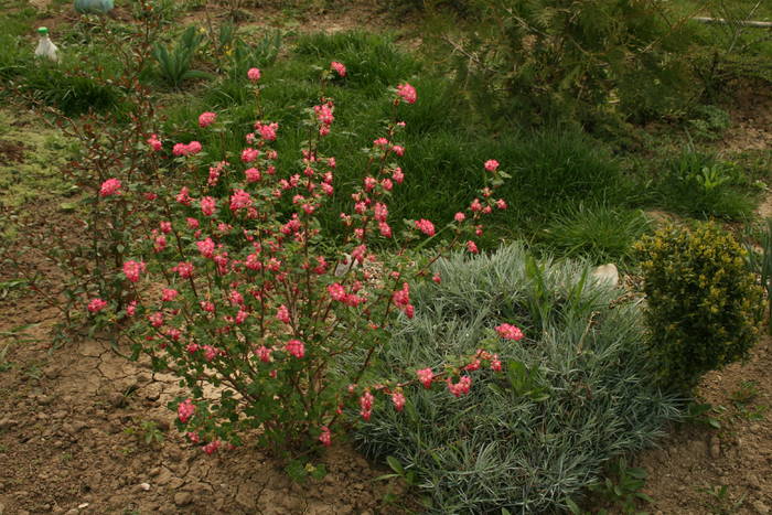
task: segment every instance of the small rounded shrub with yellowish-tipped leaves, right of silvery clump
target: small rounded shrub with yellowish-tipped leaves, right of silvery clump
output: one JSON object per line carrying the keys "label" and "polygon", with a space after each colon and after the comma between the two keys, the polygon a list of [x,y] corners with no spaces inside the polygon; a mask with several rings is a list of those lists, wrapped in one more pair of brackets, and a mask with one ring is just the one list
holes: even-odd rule
{"label": "small rounded shrub with yellowish-tipped leaves, right of silvery clump", "polygon": [[688,393],[744,358],[759,337],[762,292],[744,249],[714,224],[668,226],[636,244],[651,356],[662,384]]}

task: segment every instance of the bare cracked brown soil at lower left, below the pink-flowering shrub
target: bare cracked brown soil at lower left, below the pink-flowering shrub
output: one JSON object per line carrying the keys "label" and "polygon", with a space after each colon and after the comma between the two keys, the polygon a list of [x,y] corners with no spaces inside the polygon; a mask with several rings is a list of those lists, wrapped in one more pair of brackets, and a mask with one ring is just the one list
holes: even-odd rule
{"label": "bare cracked brown soil at lower left, below the pink-flowering shrub", "polygon": [[[388,485],[372,481],[384,471],[345,444],[323,457],[323,480],[304,484],[248,444],[206,455],[173,427],[173,377],[98,340],[51,350],[56,315],[32,298],[0,301],[0,335],[37,323],[10,341],[0,372],[0,514],[397,511],[380,503]],[[142,421],[161,443],[143,441]]]}

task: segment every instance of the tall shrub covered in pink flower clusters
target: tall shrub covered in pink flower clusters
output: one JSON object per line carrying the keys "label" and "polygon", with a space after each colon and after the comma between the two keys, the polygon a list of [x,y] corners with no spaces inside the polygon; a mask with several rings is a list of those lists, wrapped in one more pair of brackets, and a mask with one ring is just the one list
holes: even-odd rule
{"label": "tall shrub covered in pink flower clusters", "polygon": [[[332,71],[345,75],[333,63],[323,78]],[[260,72],[248,74],[259,101]],[[485,187],[452,221],[442,226],[406,221],[399,233],[393,227],[388,201],[406,180],[395,162],[406,151],[398,143],[405,124],[396,115],[401,104],[418,99],[407,83],[394,94],[395,119],[366,150],[352,208],[340,213],[347,237],[335,249],[317,219],[335,194],[337,167],[322,150],[335,119],[335,104],[323,93],[307,111],[309,136],[296,170],[277,169],[272,146],[281,127],[270,120],[255,122],[240,153],[214,163],[211,150],[195,141],[174,146],[179,170],[201,180],[174,187],[159,183],[161,219],[138,244],[137,256],[143,257],[127,259],[120,277],[137,299],[126,310],[136,320],[128,332],[135,357],[146,353],[157,369],[181,377],[190,396],[171,408],[193,442],[206,442],[206,452],[238,444],[248,429],[259,429],[260,443],[280,455],[314,442],[329,446],[347,405],[358,406],[367,420],[384,398],[401,410],[414,383],[444,383],[460,397],[479,368],[501,371],[497,355],[481,348],[443,369],[414,371],[409,382],[367,374],[395,318],[415,314],[411,285],[428,279],[429,266],[449,249],[476,251],[472,238],[482,234],[482,217],[506,207],[494,191],[507,175],[489,162],[481,170]],[[199,125],[218,130],[218,117],[204,112]],[[157,138],[148,140],[148,151]],[[196,174],[206,168],[208,174]],[[120,191],[111,179],[105,184],[106,191]],[[106,199],[117,202],[121,195]],[[430,240],[437,243],[430,256],[408,254],[408,245]],[[378,250],[389,245],[396,250]],[[89,309],[101,311],[98,303]],[[502,335],[516,339],[516,328],[510,328]],[[351,355],[361,357],[356,365],[334,366]],[[206,385],[216,388],[216,398],[205,395]]]}

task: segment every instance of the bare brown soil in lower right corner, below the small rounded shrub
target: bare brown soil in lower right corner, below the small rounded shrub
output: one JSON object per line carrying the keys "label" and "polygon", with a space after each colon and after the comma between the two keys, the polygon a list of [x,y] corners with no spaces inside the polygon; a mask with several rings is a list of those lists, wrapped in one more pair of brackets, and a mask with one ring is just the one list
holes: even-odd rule
{"label": "bare brown soil in lower right corner, below the small rounded shrub", "polygon": [[[765,336],[746,364],[708,374],[699,399],[720,423],[675,428],[662,449],[644,453],[648,472],[642,506],[658,514],[772,513],[772,339]],[[721,487],[726,486],[723,494]]]}

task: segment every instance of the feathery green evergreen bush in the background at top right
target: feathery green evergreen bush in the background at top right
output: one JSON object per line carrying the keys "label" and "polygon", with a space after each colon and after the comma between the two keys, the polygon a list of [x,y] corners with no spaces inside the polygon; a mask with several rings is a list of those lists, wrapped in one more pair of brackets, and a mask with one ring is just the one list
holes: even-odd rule
{"label": "feathery green evergreen bush in the background at top right", "polygon": [[642,120],[680,109],[694,95],[678,55],[688,31],[668,26],[662,2],[469,3],[473,14],[454,20],[447,40],[459,85],[486,115],[592,124],[616,111]]}

